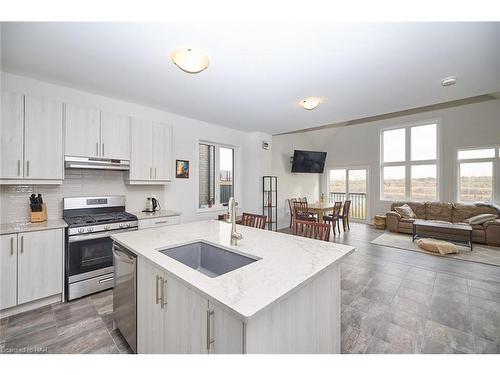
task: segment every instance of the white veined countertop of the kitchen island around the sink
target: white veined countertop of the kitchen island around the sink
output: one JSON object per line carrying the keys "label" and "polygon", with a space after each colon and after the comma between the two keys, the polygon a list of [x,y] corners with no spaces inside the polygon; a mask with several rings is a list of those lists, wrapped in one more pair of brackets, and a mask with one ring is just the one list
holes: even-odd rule
{"label": "white veined countertop of the kitchen island around the sink", "polygon": [[[354,250],[351,246],[332,242],[241,225],[236,227],[243,235],[237,246],[229,244],[231,224],[217,220],[119,233],[112,238],[139,257],[149,259],[188,286],[215,299],[244,321]],[[210,278],[158,251],[200,240],[261,259]]]}

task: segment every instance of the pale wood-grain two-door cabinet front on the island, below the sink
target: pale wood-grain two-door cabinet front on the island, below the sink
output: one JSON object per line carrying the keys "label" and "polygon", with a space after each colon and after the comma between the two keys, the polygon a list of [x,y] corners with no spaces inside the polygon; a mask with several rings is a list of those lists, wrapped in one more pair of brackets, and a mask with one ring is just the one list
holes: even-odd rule
{"label": "pale wood-grain two-door cabinet front on the island, below the sink", "polygon": [[243,353],[243,323],[142,257],[137,267],[139,353]]}

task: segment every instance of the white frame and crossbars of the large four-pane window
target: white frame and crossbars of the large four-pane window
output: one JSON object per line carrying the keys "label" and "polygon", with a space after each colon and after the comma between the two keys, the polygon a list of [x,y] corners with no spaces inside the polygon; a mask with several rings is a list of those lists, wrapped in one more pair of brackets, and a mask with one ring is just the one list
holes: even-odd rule
{"label": "white frame and crossbars of the large four-pane window", "polygon": [[[436,125],[436,159],[411,160],[411,129],[425,125]],[[405,129],[405,160],[397,162],[384,162],[384,132],[390,130]],[[381,202],[396,202],[398,200],[425,202],[438,202],[441,194],[441,120],[439,118],[419,122],[409,122],[390,127],[384,127],[379,132],[379,197]],[[416,200],[411,196],[411,167],[415,165],[436,165],[436,198],[433,200]],[[384,167],[405,167],[405,196],[400,199],[391,199],[384,196]]]}

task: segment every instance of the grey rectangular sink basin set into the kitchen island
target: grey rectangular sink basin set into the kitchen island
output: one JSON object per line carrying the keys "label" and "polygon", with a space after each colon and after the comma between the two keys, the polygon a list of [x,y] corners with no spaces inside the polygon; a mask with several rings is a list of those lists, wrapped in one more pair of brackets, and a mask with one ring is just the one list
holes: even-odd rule
{"label": "grey rectangular sink basin set into the kitchen island", "polygon": [[209,277],[217,277],[257,261],[202,241],[160,252]]}

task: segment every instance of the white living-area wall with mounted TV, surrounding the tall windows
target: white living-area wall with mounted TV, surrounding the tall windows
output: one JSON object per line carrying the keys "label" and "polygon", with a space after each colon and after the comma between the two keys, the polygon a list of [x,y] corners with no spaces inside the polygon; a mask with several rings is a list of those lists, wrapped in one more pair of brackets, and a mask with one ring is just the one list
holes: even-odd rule
{"label": "white living-area wall with mounted TV, surrounding the tall windows", "polygon": [[[273,144],[275,147],[281,144],[283,149],[292,150],[302,147],[305,141],[311,145],[311,149],[327,151],[325,171],[331,167],[368,167],[371,218],[377,213],[386,212],[390,206],[390,202],[380,200],[380,130],[425,121],[438,121],[440,126],[440,200],[455,201],[456,149],[500,144],[500,100],[293,136],[274,136]],[[306,176],[293,178],[289,166],[284,163],[273,163],[273,173],[289,181],[281,184],[282,197],[296,196],[296,185],[311,185]],[[319,191],[326,195],[326,173],[320,178]],[[317,197],[317,194],[311,192],[311,197]]]}

